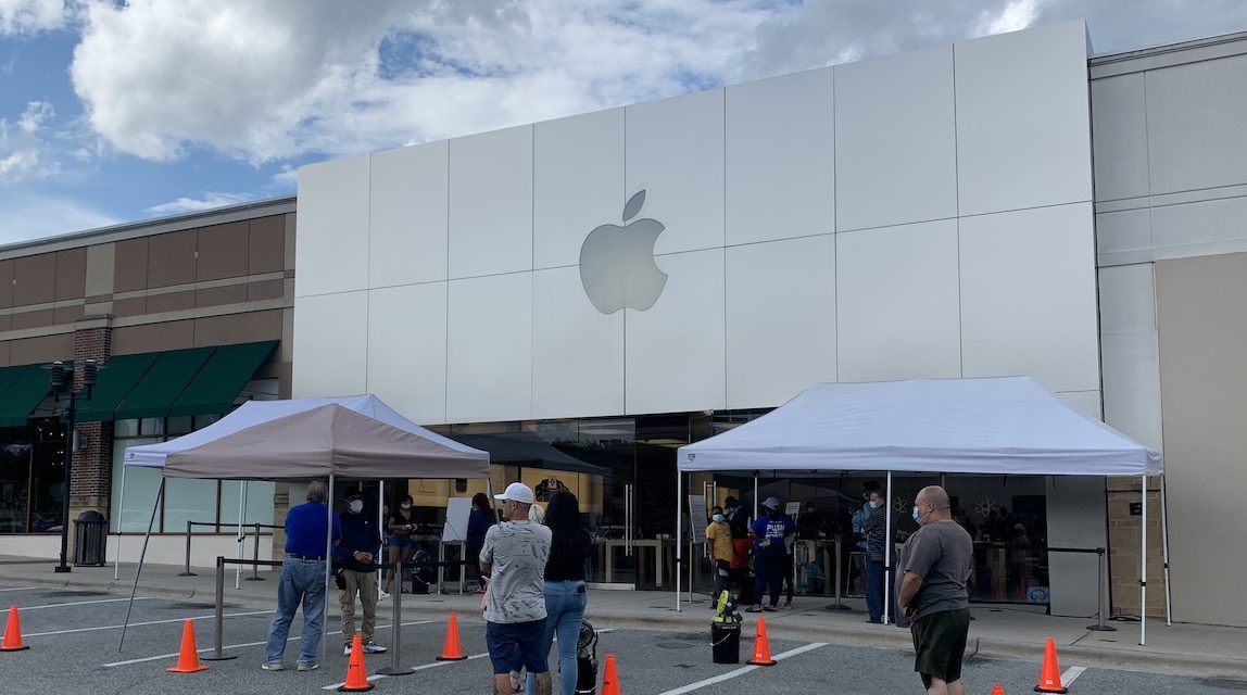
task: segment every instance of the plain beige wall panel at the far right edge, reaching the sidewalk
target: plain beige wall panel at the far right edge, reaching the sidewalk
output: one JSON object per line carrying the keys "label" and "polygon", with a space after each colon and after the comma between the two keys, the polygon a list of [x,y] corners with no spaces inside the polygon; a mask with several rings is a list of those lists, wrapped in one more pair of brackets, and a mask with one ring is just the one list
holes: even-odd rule
{"label": "plain beige wall panel at the far right edge, reaching the sidewalk", "polygon": [[[1230,578],[1247,555],[1227,510],[1247,499],[1247,253],[1156,263],[1173,618],[1247,625]],[[1210,581],[1210,578],[1220,580]]]}

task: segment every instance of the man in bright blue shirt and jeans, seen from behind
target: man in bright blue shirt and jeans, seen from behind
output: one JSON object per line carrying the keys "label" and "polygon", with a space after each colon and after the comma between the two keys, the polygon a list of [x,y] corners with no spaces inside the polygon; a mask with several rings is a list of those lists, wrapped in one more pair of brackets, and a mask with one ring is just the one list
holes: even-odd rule
{"label": "man in bright blue shirt and jeans, seen from behind", "polygon": [[324,483],[308,484],[307,502],[286,513],[286,559],[282,560],[282,579],[277,585],[277,613],[268,626],[268,644],[264,646],[267,671],[286,669],[282,655],[286,639],[291,634],[294,611],[303,604],[303,634],[299,638],[301,671],[320,668],[317,650],[324,634],[324,563],[328,522],[333,519],[333,543],[342,538],[342,522],[329,512],[329,490]]}

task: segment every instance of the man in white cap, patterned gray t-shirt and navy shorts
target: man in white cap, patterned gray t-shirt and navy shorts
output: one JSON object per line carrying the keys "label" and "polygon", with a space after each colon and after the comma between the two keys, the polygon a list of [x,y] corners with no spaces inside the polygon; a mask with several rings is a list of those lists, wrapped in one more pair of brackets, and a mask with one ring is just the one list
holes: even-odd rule
{"label": "man in white cap, patterned gray t-shirt and navy shorts", "polygon": [[480,574],[489,578],[485,595],[485,644],[494,664],[494,691],[511,694],[511,671],[527,669],[537,695],[550,695],[545,635],[545,564],[550,529],[529,520],[532,489],[511,483],[494,495],[503,503],[501,524],[485,533]]}

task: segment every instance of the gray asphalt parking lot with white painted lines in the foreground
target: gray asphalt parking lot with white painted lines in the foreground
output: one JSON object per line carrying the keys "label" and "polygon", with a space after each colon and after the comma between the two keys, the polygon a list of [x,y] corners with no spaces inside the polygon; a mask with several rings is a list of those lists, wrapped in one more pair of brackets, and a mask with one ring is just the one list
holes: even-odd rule
{"label": "gray asphalt parking lot with white painted lines in the foreground", "polygon": [[[263,641],[269,610],[256,606],[226,605],[222,643],[227,661],[206,661],[208,670],[197,674],[171,674],[166,669],[177,661],[182,624],[192,619],[201,653],[212,650],[212,605],[207,600],[143,599],[133,604],[125,646],[118,651],[121,624],[127,601],[92,590],[29,588],[10,590],[4,599],[21,609],[25,651],[0,654],[0,690],[4,693],[168,693],[180,695],[263,694],[334,691],[345,678],[347,658],[342,655],[340,624],[334,614],[327,620],[328,658],[322,668],[298,673],[259,669],[264,660]],[[392,644],[388,616],[382,615],[377,639]],[[797,639],[786,635],[782,624],[769,625],[769,648],[778,664],[769,668],[747,666],[752,654],[753,623],[747,623],[741,639],[741,664],[715,664],[711,659],[710,630],[653,631],[616,628],[607,621],[596,626],[597,655],[605,661],[614,654],[619,666],[621,691],[628,695],[680,695],[683,693],[754,693],[782,688],[787,693],[920,693],[912,671],[912,655],[899,649],[848,646]],[[297,618],[286,661],[293,666],[301,620]],[[484,623],[478,615],[459,619],[460,640],[466,661],[438,661],[445,638],[445,619],[405,615],[402,628],[402,653],[397,661],[414,668],[409,675],[382,676],[373,681],[377,693],[473,693],[490,688],[490,663],[485,655]],[[392,666],[394,654],[367,658],[368,673]],[[1202,681],[1186,676],[1162,676],[1136,671],[1087,669],[1062,664],[1065,673],[1077,674],[1071,693],[1148,693],[1226,695],[1242,690],[1236,681]],[[600,669],[601,670],[601,669]],[[1006,693],[1029,693],[1039,676],[1039,665],[1011,660],[970,658],[964,681],[966,693],[990,693],[995,683]],[[1067,676],[1069,678],[1069,676]]]}

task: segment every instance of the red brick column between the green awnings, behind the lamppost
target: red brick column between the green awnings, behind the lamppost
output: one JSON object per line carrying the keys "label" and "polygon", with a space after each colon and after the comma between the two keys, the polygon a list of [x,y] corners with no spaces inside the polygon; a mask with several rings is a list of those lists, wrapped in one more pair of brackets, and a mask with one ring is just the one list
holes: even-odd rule
{"label": "red brick column between the green awnings, behind the lamppost", "polygon": [[[84,318],[74,331],[74,362],[95,359],[106,364],[112,354],[112,321],[108,317]],[[82,371],[74,369],[74,388],[82,388]],[[84,394],[85,396],[85,394]],[[89,422],[76,428],[80,448],[74,452],[70,472],[70,523],[94,509],[111,519],[112,423]],[[72,445],[72,438],[71,444]],[[70,554],[74,552],[74,527],[70,527]]]}

